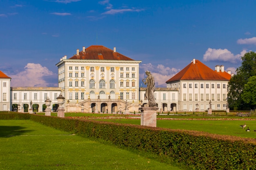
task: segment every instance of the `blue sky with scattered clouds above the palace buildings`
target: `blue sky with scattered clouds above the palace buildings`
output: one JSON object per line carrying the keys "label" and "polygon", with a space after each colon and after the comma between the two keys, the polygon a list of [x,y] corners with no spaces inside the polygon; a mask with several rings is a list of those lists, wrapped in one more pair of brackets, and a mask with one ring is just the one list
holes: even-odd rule
{"label": "blue sky with scattered clouds above the palace buildings", "polygon": [[[0,0],[0,70],[13,87],[57,87],[60,59],[91,45],[141,60],[156,87],[191,60],[236,73],[256,51],[255,0]],[[144,85],[144,84],[143,84]]]}

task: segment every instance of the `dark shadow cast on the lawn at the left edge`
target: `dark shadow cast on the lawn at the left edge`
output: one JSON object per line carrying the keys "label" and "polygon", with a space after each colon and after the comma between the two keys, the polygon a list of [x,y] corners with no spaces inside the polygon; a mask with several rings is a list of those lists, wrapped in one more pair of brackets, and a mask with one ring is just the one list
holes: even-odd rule
{"label": "dark shadow cast on the lawn at the left edge", "polygon": [[31,132],[34,130],[24,130],[26,127],[22,126],[0,126],[0,137],[13,137],[20,136],[25,132]]}

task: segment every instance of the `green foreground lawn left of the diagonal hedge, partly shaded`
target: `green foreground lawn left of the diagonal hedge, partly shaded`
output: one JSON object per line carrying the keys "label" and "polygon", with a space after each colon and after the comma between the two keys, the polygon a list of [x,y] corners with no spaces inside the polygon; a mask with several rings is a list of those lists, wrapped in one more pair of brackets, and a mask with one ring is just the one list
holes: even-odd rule
{"label": "green foreground lawn left of the diagonal hedge, partly shaded", "polygon": [[158,157],[102,144],[30,120],[0,120],[0,169],[181,170]]}

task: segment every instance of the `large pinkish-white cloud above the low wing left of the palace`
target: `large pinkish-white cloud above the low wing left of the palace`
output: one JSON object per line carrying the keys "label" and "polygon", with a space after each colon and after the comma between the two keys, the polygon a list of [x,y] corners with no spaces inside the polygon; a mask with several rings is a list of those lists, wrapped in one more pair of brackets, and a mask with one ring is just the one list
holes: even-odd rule
{"label": "large pinkish-white cloud above the low wing left of the palace", "polygon": [[9,75],[9,77],[11,77],[12,87],[47,87],[49,83],[44,78],[52,75],[54,73],[48,68],[40,64],[28,63],[24,71]]}

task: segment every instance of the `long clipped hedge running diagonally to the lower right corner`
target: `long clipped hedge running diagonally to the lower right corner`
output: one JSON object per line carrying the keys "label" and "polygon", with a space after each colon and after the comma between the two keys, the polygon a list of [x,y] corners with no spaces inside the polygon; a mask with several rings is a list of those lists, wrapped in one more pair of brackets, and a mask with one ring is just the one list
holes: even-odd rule
{"label": "long clipped hedge running diagonally to the lower right corner", "polygon": [[31,120],[53,128],[111,141],[118,146],[153,152],[193,169],[256,169],[254,139],[88,119],[29,116]]}

